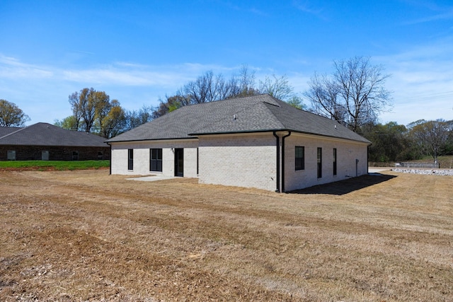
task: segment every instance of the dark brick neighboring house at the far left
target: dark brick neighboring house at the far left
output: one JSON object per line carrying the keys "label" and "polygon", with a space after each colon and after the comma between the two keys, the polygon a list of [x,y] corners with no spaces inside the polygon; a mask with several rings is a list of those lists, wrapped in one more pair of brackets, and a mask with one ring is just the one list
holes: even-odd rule
{"label": "dark brick neighboring house at the far left", "polygon": [[38,122],[0,127],[0,161],[86,161],[110,159],[110,147],[95,134]]}

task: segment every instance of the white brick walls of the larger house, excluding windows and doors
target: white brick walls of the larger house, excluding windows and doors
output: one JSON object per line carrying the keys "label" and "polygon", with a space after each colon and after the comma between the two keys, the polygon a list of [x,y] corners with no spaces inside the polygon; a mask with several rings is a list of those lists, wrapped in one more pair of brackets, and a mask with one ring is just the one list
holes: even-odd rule
{"label": "white brick walls of the larger house, excluding windows and doors", "polygon": [[[282,139],[280,138],[280,144]],[[305,168],[295,170],[294,147],[304,146]],[[322,148],[322,178],[317,178],[317,148]],[[222,134],[199,139],[140,141],[112,144],[112,174],[149,175],[149,149],[162,149],[162,174],[174,176],[174,149],[184,149],[184,177],[200,183],[277,187],[277,147],[272,133]],[[197,175],[197,148],[198,168]],[[333,175],[333,149],[337,149],[337,175]],[[134,169],[127,170],[127,149],[134,149]],[[367,144],[292,133],[285,139],[285,191],[297,190],[367,173]]]}

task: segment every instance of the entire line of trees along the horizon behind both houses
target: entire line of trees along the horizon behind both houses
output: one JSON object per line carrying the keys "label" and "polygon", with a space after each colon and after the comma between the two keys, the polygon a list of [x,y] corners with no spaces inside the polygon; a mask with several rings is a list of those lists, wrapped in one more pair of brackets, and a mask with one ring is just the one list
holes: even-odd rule
{"label": "entire line of trees along the horizon behind both houses", "polygon": [[[352,57],[333,61],[331,74],[315,73],[309,88],[298,94],[287,76],[265,76],[257,81],[254,71],[242,66],[239,74],[229,78],[206,71],[175,93],[159,98],[159,105],[143,105],[139,110],[125,110],[104,91],[83,88],[69,95],[72,115],[55,124],[108,139],[185,105],[268,93],[295,108],[336,120],[372,141],[369,161],[408,161],[423,156],[435,160],[453,154],[453,121],[418,120],[407,126],[378,122],[379,114],[391,107],[391,91],[385,88],[389,77],[369,57]],[[15,104],[0,100],[0,127],[21,127],[28,120]]]}

